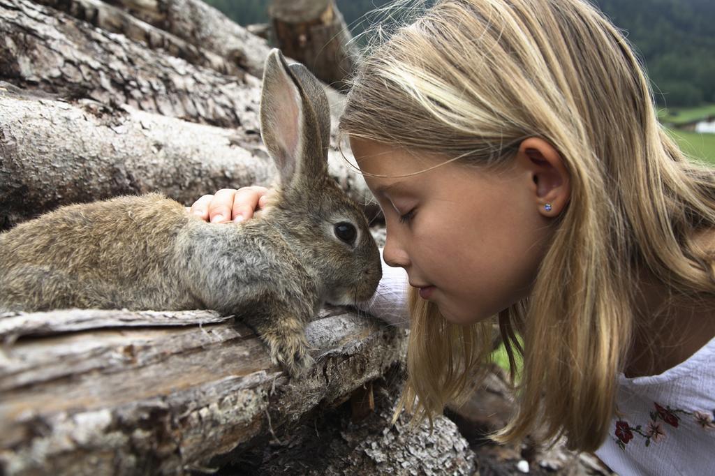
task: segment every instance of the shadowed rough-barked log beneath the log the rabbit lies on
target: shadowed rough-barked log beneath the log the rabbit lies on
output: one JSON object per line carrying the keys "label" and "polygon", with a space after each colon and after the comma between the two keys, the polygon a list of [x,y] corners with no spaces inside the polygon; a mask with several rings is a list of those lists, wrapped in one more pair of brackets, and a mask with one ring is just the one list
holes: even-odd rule
{"label": "shadowed rough-barked log beneath the log the rabbit lies on", "polygon": [[360,387],[374,389],[375,411],[355,421],[347,404],[310,418],[260,453],[245,453],[225,475],[478,475],[475,455],[448,418],[412,427],[404,412],[391,424],[403,379],[399,369]]}

